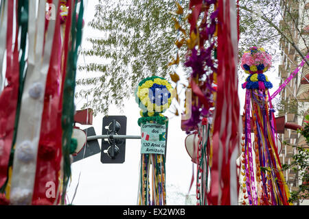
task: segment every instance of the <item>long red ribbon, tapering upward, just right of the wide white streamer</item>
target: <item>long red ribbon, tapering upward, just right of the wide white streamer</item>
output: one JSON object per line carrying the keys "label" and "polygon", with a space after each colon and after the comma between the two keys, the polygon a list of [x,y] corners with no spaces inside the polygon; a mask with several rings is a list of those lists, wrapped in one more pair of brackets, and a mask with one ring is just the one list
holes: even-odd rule
{"label": "long red ribbon, tapering upward, just right of the wide white streamer", "polygon": [[[57,0],[58,1],[58,0]],[[60,4],[57,14],[60,12]],[[36,179],[32,205],[52,205],[56,199],[58,177],[61,161],[62,129],[58,108],[60,103],[60,81],[62,74],[60,16],[56,16],[54,32],[54,47],[52,48],[49,70],[47,73],[45,101],[43,107],[41,134],[36,162]],[[56,118],[56,119],[55,119]]]}

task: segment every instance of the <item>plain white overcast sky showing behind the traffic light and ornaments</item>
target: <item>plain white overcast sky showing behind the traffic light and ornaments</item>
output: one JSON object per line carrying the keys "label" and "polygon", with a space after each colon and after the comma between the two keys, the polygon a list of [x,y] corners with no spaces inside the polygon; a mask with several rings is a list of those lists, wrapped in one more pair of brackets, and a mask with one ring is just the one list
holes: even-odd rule
{"label": "plain white overcast sky showing behind the traffic light and ornaments", "polygon": [[[87,23],[91,21],[94,15],[95,4],[98,0],[88,1],[87,8],[84,11],[84,32],[82,47],[88,45],[85,42],[87,37],[102,37],[102,33],[88,27]],[[265,48],[266,49],[266,48]],[[80,56],[78,62],[89,62],[93,58]],[[102,62],[104,60],[98,60]],[[270,81],[273,82],[273,93],[279,84],[277,79],[277,64],[275,68],[266,73]],[[78,72],[77,78],[87,77],[87,73]],[[91,74],[93,77],[93,74]],[[244,105],[244,90],[239,82],[239,96],[242,112]],[[82,104],[87,102],[84,99],[76,100],[76,109],[80,110]],[[127,117],[127,135],[140,135],[140,127],[137,125],[139,118],[139,107],[134,98],[125,101],[124,113],[120,112],[115,105],[111,105],[109,115],[125,115]],[[93,118],[93,127],[97,135],[102,134],[103,114],[98,114]],[[80,126],[82,129],[90,126]],[[181,119],[179,117],[170,118],[168,129],[168,144],[166,157],[166,184],[167,184],[167,203],[168,205],[184,205],[191,177],[192,162],[185,151],[184,131],[181,131]],[[101,145],[101,140],[99,140]],[[126,162],[124,164],[102,164],[100,162],[100,153],[88,157],[71,165],[72,175],[71,184],[67,190],[69,201],[71,202],[76,190],[78,177],[80,181],[78,190],[73,201],[73,205],[136,205],[139,177],[139,159],[140,159],[140,140],[126,140]],[[194,167],[194,172],[196,167]],[[194,194],[193,185],[191,194]],[[192,203],[194,204],[194,203]]]}

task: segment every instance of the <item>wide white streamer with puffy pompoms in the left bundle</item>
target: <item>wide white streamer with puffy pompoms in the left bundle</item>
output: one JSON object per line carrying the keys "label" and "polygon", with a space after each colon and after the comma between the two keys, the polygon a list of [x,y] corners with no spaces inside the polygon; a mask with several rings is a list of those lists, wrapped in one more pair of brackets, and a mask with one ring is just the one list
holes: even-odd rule
{"label": "wide white streamer with puffy pompoms in the left bundle", "polygon": [[[58,3],[58,1],[54,3],[56,9],[58,9]],[[44,105],[45,83],[54,41],[56,21],[50,20],[43,53],[45,38],[45,0],[40,0],[38,3],[37,18],[35,14],[36,1],[29,1],[29,56],[25,86],[21,99],[19,129],[16,135],[16,145],[14,145],[16,153],[14,153],[12,172],[12,192],[10,198],[12,205],[30,205],[32,201],[36,175],[36,157]],[[38,92],[34,92],[34,90],[37,90],[34,89],[35,85],[42,88],[38,89],[40,90],[40,95],[38,96],[36,95]]]}

